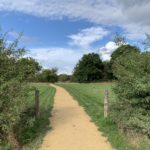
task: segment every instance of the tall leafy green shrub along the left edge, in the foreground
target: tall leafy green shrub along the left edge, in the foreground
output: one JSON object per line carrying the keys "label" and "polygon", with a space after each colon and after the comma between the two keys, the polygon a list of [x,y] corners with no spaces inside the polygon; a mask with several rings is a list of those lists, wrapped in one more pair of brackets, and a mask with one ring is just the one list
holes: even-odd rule
{"label": "tall leafy green shrub along the left edge, in the foreground", "polygon": [[8,45],[5,37],[0,37],[0,136],[7,139],[12,148],[18,145],[13,127],[24,108],[26,96],[26,84],[18,65],[25,49],[18,48],[17,44],[16,40]]}

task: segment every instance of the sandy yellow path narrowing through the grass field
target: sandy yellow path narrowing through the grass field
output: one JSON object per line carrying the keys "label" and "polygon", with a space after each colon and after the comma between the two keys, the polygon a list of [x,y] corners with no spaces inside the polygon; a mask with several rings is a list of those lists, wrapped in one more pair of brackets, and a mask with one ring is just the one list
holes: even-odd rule
{"label": "sandy yellow path narrowing through the grass field", "polygon": [[106,137],[97,130],[82,107],[58,86],[51,117],[52,130],[40,150],[112,150]]}

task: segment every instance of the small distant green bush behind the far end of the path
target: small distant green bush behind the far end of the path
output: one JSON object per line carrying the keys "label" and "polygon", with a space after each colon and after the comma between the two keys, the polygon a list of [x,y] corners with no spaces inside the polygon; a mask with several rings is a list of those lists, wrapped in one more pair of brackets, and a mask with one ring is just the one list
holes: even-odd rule
{"label": "small distant green bush behind the far end of the path", "polygon": [[39,82],[57,82],[58,76],[57,76],[57,69],[43,69],[41,73],[37,75],[37,80]]}

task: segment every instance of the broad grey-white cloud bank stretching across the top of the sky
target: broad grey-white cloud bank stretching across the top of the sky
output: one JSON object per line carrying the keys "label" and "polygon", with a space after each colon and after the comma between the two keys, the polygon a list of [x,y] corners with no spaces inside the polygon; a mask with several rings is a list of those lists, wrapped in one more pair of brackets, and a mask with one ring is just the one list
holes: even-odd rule
{"label": "broad grey-white cloud bank stretching across the top of the sky", "polygon": [[[49,19],[85,19],[96,24],[121,26],[125,30],[132,25],[140,29],[150,26],[149,0],[0,0],[0,11],[17,11]],[[135,30],[128,32],[134,39],[144,34],[144,31],[139,31],[140,35]]]}

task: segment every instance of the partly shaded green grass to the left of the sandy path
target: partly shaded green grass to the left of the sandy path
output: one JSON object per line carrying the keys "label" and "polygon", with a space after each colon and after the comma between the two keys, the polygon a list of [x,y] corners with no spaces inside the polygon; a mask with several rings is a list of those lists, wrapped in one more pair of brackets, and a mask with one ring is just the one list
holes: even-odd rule
{"label": "partly shaded green grass to the left of the sandy path", "polygon": [[55,89],[46,83],[35,83],[40,92],[40,116],[34,117],[34,90],[30,92],[27,98],[27,110],[23,113],[18,123],[17,135],[24,150],[37,150],[42,143],[45,133],[50,129],[49,117],[54,102]]}

